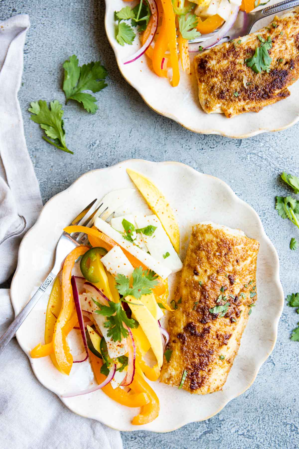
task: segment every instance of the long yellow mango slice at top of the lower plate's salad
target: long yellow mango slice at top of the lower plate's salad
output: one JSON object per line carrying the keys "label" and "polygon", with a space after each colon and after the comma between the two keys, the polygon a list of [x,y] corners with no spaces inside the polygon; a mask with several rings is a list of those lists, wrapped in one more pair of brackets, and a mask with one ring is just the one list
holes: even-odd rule
{"label": "long yellow mango slice at top of the lower plate's salad", "polygon": [[165,196],[156,188],[145,176],[134,172],[127,168],[127,173],[136,187],[139,189],[148,206],[152,209],[154,214],[159,218],[166,234],[168,235],[173,248],[177,253],[180,250],[180,230],[177,220],[173,214],[172,208],[169,206]]}

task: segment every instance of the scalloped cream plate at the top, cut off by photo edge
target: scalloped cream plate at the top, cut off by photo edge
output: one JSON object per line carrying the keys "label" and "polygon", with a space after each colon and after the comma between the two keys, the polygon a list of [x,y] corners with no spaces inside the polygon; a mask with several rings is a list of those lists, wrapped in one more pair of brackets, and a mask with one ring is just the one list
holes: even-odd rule
{"label": "scalloped cream plate at the top, cut off by photo edge", "polygon": [[[106,0],[105,28],[108,40],[114,50],[117,65],[122,76],[141,95],[149,107],[183,127],[201,134],[220,134],[221,136],[244,138],[261,132],[280,131],[296,123],[299,119],[298,83],[290,86],[290,97],[266,106],[258,113],[249,112],[227,119],[224,114],[206,114],[198,99],[198,86],[191,55],[191,75],[180,70],[178,87],[173,88],[168,79],[159,78],[151,69],[149,59],[143,55],[137,61],[124,65],[126,58],[140,48],[139,38],[133,45],[122,47],[115,39],[114,11],[125,5],[135,5],[123,0]],[[277,3],[271,0],[270,4]],[[260,8],[261,9],[261,8]],[[278,14],[281,15],[281,14]],[[256,31],[271,22],[273,16],[257,22],[252,31]]]}

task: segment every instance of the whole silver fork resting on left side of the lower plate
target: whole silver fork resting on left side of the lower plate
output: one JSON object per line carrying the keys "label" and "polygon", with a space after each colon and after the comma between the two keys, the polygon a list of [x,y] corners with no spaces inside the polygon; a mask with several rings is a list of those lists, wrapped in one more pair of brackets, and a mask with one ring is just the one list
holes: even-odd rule
{"label": "whole silver fork resting on left side of the lower plate", "polygon": [[[88,226],[91,227],[93,224],[93,217],[95,216],[96,212],[100,209],[100,207],[103,205],[103,203],[100,204],[99,207],[95,209],[95,211],[87,218],[87,220],[84,220],[86,218],[87,212],[89,212],[92,208],[92,206],[97,201],[97,198],[95,198],[90,204],[88,204],[87,207],[85,207],[80,214],[74,218],[74,220],[71,222],[71,225],[78,225],[82,224],[82,226]],[[104,211],[99,215],[103,216],[103,214],[107,211],[108,207],[104,209]],[[108,217],[108,219],[110,216]],[[108,220],[107,219],[107,220]],[[84,220],[84,221],[83,221]],[[83,222],[82,222],[83,221]],[[79,245],[84,245],[87,243],[87,236],[84,233],[72,233],[68,234],[66,232],[63,232],[61,234],[60,239],[58,240],[57,246],[56,246],[56,255],[55,255],[55,262],[52,270],[48,274],[47,278],[43,281],[42,285],[38,288],[38,290],[35,292],[35,294],[32,296],[30,301],[26,304],[26,306],[22,309],[22,311],[15,317],[9,328],[4,332],[4,334],[0,337],[0,354],[10,340],[13,338],[15,333],[17,332],[18,328],[21,326],[22,322],[26,319],[26,317],[29,315],[31,310],[34,308],[35,304],[39,301],[40,297],[44,294],[45,291],[47,291],[48,287],[52,284],[52,281],[56,278],[57,274],[62,269],[65,257],[72,251],[75,247],[78,247]]]}

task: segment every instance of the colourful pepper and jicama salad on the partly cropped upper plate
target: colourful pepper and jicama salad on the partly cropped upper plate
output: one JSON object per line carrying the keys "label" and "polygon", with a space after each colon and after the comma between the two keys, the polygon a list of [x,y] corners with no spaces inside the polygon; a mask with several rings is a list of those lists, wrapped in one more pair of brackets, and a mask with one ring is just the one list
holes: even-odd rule
{"label": "colourful pepper and jicama salad on the partly cropped upper plate", "polygon": [[[234,25],[239,9],[249,13],[259,5],[260,0],[141,0],[124,6],[114,14],[117,42],[132,45],[136,34],[141,40],[141,47],[124,64],[145,53],[156,75],[178,86],[180,70],[191,73],[189,53],[217,44]],[[201,44],[192,43],[213,31]]]}

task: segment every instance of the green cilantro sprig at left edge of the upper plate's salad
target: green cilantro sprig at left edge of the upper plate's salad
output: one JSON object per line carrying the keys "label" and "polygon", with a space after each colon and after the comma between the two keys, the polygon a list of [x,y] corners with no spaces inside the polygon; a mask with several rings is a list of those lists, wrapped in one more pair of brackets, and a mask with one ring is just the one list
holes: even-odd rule
{"label": "green cilantro sprig at left edge of the upper plate's salad", "polygon": [[[143,0],[139,2],[134,8],[125,6],[120,11],[115,11],[114,18],[117,21],[116,27],[116,40],[124,46],[125,44],[132,45],[135,39],[136,33],[133,27],[138,26],[138,31],[144,31],[147,27],[149,19],[151,17],[151,11],[148,3],[143,3]],[[131,20],[131,26],[123,21]]]}

